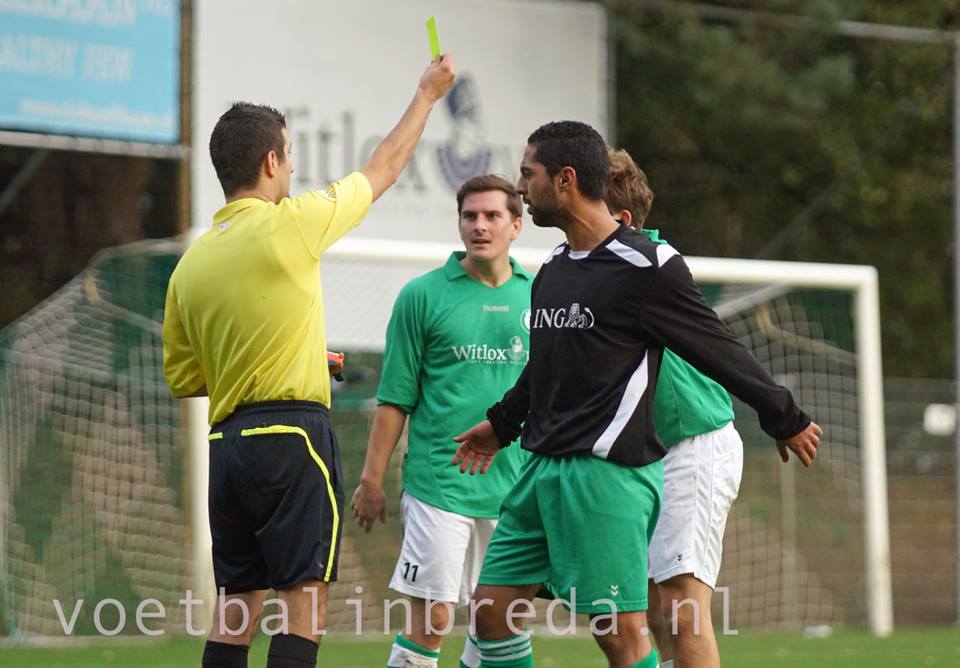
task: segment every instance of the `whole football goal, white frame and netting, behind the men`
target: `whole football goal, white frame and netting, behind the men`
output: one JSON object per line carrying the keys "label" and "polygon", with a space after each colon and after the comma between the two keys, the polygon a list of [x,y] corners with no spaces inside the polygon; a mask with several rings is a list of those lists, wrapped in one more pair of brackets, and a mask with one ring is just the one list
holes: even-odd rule
{"label": "whole football goal, white frame and netting, behind the men", "polygon": [[[205,522],[202,400],[172,399],[159,326],[166,281],[182,247],[144,243],[99,258],[83,276],[0,338],[0,632],[62,636],[79,599],[76,634],[118,624],[138,633],[138,605],[156,599],[162,625],[183,632],[187,589],[212,600]],[[334,384],[347,500],[363,466],[393,301],[451,247],[343,239],[323,261],[329,346],[347,353]],[[542,251],[515,249],[535,270]],[[780,463],[739,403],[743,484],[726,531],[715,597],[718,632],[892,624],[876,277],[836,265],[687,258],[708,300],[788,386],[826,439],[812,469]],[[189,429],[182,426],[189,424]],[[189,441],[189,444],[188,444]],[[382,632],[401,539],[399,463],[387,525],[370,534],[344,513],[331,632]],[[194,626],[205,618],[194,611]],[[206,614],[204,611],[202,614]],[[112,616],[111,616],[112,615]],[[392,613],[396,630],[402,612]]]}

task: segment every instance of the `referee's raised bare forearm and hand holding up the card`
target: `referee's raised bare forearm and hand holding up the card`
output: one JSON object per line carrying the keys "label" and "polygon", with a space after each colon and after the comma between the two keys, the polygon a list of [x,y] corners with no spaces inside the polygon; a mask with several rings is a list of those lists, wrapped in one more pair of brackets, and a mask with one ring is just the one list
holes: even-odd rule
{"label": "referee's raised bare forearm and hand holding up the card", "polygon": [[370,182],[374,202],[396,183],[410,162],[433,105],[450,89],[453,79],[453,57],[449,53],[430,63],[400,121],[360,168]]}

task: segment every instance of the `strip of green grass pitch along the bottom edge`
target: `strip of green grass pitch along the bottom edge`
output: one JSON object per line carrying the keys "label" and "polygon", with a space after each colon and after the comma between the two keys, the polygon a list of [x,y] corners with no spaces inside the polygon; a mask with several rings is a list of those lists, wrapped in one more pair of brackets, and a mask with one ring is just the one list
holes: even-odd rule
{"label": "strip of green grass pitch along the bottom edge", "polygon": [[[440,665],[457,665],[462,639],[451,639]],[[383,666],[389,640],[331,637],[320,649],[318,665],[335,668]],[[267,643],[259,638],[250,654],[250,666],[263,666]],[[202,643],[179,638],[169,642],[125,644],[105,641],[95,647],[40,649],[0,646],[3,668],[99,668],[138,666],[182,668],[199,665]],[[534,636],[536,665],[543,668],[605,668],[593,640],[585,637]],[[960,666],[960,630],[917,628],[898,630],[878,640],[862,631],[839,631],[829,638],[806,639],[798,633],[728,636],[720,653],[729,668],[918,668]]]}

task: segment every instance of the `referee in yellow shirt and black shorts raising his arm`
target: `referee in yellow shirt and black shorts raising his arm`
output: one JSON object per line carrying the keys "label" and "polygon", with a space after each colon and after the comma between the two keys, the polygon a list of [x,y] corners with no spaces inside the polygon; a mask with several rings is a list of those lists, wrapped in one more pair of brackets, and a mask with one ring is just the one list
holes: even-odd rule
{"label": "referee in yellow shirt and black shorts raising his arm", "polygon": [[163,323],[177,397],[210,397],[210,528],[220,596],[204,667],[247,665],[270,589],[284,614],[268,668],[316,665],[336,580],[343,474],[330,426],[320,257],[406,166],[453,83],[444,55],[360,171],[290,197],[283,116],[234,104],[210,137],[226,204],[180,259]]}

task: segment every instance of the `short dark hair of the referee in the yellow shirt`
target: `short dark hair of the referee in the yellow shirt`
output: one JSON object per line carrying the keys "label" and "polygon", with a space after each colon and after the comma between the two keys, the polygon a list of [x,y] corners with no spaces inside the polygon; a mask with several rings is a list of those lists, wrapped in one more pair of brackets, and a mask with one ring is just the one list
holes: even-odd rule
{"label": "short dark hair of the referee in the yellow shirt", "polygon": [[224,112],[210,135],[210,159],[225,196],[257,185],[260,166],[270,151],[281,163],[286,160],[285,127],[283,114],[263,104],[235,102]]}

